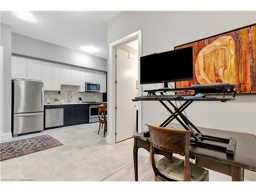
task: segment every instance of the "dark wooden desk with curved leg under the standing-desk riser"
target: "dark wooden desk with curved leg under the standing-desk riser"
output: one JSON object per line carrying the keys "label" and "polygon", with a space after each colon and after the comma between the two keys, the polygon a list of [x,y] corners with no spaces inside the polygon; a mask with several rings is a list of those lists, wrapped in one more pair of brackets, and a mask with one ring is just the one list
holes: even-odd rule
{"label": "dark wooden desk with curved leg under the standing-desk riser", "polygon": [[[228,157],[225,152],[215,150],[214,148],[191,145],[190,150],[197,165],[231,176],[232,181],[243,181],[244,169],[256,172],[256,137],[253,134],[207,129],[203,127],[198,127],[198,129],[208,135],[235,137],[237,139],[237,146],[234,157]],[[144,148],[150,152],[150,137],[143,137],[143,133],[135,134],[133,137],[135,181],[138,181],[138,148]],[[157,150],[156,153],[166,157],[172,156],[172,154],[161,150]]]}

